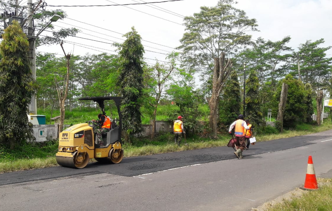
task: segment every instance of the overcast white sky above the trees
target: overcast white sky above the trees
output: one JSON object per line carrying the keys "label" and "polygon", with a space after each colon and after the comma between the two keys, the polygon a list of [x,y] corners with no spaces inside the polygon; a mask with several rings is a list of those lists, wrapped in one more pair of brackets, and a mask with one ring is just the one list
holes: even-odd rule
{"label": "overcast white sky above the trees", "polygon": [[[154,2],[163,0],[144,0]],[[111,5],[142,3],[141,0],[48,0],[48,5]],[[74,44],[65,43],[66,53],[74,55],[117,54],[111,45],[122,43],[122,34],[134,26],[141,35],[146,50],[145,61],[153,64],[155,60],[166,61],[167,53],[175,51],[185,32],[182,25],[184,16],[200,12],[201,6],[216,6],[218,0],[183,0],[152,5],[105,6],[105,7],[47,7],[46,9],[64,10],[68,17],[54,25],[59,27],[77,27],[81,30],[78,37],[67,38]],[[154,8],[153,8],[154,7]],[[325,39],[324,46],[332,45],[332,1],[331,0],[238,0],[236,8],[244,10],[249,18],[255,18],[260,32],[252,33],[253,39],[278,41],[290,36],[289,46],[297,47],[306,40]],[[132,8],[132,9],[130,9]],[[155,9],[157,8],[157,9]],[[167,10],[166,12],[163,9]],[[69,25],[70,24],[70,25]],[[57,27],[57,28],[59,28]],[[48,32],[44,31],[41,35]],[[97,41],[102,41],[97,42]],[[324,47],[322,46],[322,47]],[[63,56],[60,46],[40,46],[37,51],[58,53]],[[153,53],[150,51],[158,52]],[[163,53],[163,54],[160,54]],[[332,57],[332,51],[328,51]]]}

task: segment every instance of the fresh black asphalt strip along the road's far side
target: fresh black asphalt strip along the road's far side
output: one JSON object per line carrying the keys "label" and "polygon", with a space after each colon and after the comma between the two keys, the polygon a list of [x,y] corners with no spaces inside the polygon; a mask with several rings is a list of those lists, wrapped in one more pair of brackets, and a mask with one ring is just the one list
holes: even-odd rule
{"label": "fresh black asphalt strip along the road's far side", "polygon": [[[285,150],[306,146],[314,143],[309,141],[330,138],[331,136],[296,136],[258,142],[250,145],[249,150],[243,151],[244,156],[263,154],[267,152]],[[80,177],[109,173],[120,176],[136,176],[182,166],[208,163],[220,160],[235,159],[234,149],[229,147],[215,147],[195,149],[181,152],[170,152],[164,154],[137,156],[124,158],[118,164],[89,163],[83,169],[74,169],[62,166],[33,169],[26,171],[15,171],[0,174],[0,185],[8,185],[22,182],[54,179],[59,177]]]}

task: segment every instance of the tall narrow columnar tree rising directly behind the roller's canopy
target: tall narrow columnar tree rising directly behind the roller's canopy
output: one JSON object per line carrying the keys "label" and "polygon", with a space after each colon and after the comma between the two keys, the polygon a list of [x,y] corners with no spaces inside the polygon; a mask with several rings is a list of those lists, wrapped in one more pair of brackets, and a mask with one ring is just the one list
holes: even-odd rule
{"label": "tall narrow columnar tree rising directly behind the roller's canopy", "polygon": [[143,89],[143,53],[141,36],[134,27],[124,35],[127,39],[119,47],[119,78],[120,96],[122,97],[123,127],[129,136],[142,132],[139,98]]}

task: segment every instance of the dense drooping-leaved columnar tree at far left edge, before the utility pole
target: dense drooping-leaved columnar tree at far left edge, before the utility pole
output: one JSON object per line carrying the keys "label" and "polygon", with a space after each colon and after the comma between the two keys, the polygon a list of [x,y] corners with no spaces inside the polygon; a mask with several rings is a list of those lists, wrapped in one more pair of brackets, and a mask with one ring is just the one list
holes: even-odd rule
{"label": "dense drooping-leaved columnar tree at far left edge, before the utility pole", "polygon": [[28,120],[29,104],[36,83],[29,67],[29,42],[17,21],[7,27],[0,44],[0,143],[15,148],[33,140]]}

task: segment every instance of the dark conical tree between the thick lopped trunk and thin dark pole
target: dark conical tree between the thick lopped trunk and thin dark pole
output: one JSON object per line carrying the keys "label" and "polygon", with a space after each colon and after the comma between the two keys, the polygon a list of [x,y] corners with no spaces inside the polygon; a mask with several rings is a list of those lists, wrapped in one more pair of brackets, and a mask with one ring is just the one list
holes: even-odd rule
{"label": "dark conical tree between the thick lopped trunk and thin dark pole", "polygon": [[237,72],[232,71],[230,78],[226,81],[223,94],[219,103],[219,122],[230,125],[240,114],[241,89]]}

